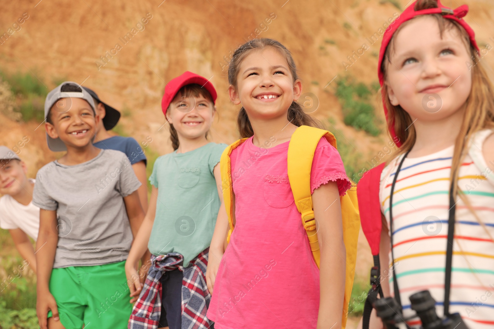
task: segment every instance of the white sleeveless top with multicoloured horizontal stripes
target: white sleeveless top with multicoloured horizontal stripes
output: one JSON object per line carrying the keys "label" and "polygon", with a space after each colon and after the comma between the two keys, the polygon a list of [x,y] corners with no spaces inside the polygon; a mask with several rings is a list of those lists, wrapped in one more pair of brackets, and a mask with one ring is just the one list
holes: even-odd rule
{"label": "white sleeveless top with multicoloured horizontal stripes", "polygon": [[[494,328],[494,174],[482,154],[491,130],[475,134],[459,170],[458,186],[477,217],[458,196],[454,228],[450,313],[458,312],[470,329]],[[409,296],[429,290],[443,315],[450,173],[454,146],[426,156],[406,158],[393,194],[393,249],[403,315],[410,317]],[[389,193],[404,155],[382,171],[379,200],[389,229]],[[489,164],[491,168],[494,164]],[[391,262],[391,249],[389,250]],[[392,272],[389,276],[391,295]],[[420,324],[418,317],[409,324]]]}

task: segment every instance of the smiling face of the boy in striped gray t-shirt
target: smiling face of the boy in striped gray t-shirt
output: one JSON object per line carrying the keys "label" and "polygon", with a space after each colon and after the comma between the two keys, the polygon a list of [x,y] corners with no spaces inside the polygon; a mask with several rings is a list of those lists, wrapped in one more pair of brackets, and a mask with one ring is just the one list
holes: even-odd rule
{"label": "smiling face of the boy in striped gray t-shirt", "polygon": [[92,143],[99,118],[85,100],[61,98],[48,115],[52,123],[46,122],[45,129],[51,138],[60,138],[66,146],[74,148]]}

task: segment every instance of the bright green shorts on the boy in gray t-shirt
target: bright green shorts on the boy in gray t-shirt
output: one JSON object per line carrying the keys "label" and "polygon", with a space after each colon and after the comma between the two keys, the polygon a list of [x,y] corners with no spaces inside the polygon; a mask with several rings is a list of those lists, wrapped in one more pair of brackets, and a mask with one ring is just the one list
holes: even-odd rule
{"label": "bright green shorts on the boy in gray t-shirt", "polygon": [[[55,297],[65,329],[127,328],[132,304],[125,261],[105,265],[71,266],[51,271],[50,292]],[[48,318],[51,317],[48,312]]]}

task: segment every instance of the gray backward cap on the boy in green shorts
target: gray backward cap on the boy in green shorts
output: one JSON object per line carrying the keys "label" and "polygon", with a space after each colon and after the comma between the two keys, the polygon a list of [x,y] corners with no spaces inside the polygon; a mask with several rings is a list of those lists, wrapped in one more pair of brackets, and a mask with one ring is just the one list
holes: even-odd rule
{"label": "gray backward cap on the boy in green shorts", "polygon": [[[85,91],[79,83],[72,81],[62,82],[58,87],[48,93],[44,101],[44,119],[48,116],[48,113],[56,102],[61,98],[82,98],[85,100],[94,111],[94,101],[92,96]],[[70,103],[67,105],[67,111],[70,110]],[[46,133],[46,144],[52,151],[66,151],[67,147],[60,140],[60,138],[53,139]]]}

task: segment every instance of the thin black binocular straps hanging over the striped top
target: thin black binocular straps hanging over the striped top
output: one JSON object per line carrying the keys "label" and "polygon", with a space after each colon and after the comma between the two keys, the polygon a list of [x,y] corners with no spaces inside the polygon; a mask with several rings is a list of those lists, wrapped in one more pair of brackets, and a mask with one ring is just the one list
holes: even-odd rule
{"label": "thin black binocular straps hanging over the striped top", "polygon": [[[389,227],[390,227],[390,237],[391,237],[391,257],[392,257],[392,264],[394,265],[395,261],[395,256],[393,254],[393,213],[392,213],[392,208],[393,208],[393,193],[395,190],[395,184],[396,180],[398,178],[398,173],[401,170],[401,167],[403,165],[403,162],[405,161],[405,158],[407,157],[408,153],[410,153],[410,150],[405,153],[403,158],[400,161],[400,164],[398,165],[398,169],[396,170],[395,177],[393,178],[393,183],[391,184],[391,192],[389,195]],[[454,176],[453,176],[454,177]],[[445,266],[445,278],[444,278],[444,315],[449,316],[450,315],[450,291],[451,291],[451,270],[452,270],[452,262],[453,262],[453,237],[454,237],[454,213],[456,210],[456,202],[454,201],[453,198],[453,187],[454,187],[454,179],[453,182],[450,184],[450,210],[449,210],[449,218],[448,218],[448,245],[446,247],[446,266]],[[398,281],[396,280],[396,266],[393,267],[393,289],[395,292],[395,299],[398,302],[398,304],[401,306],[401,298],[400,298],[400,291],[398,290]]]}

